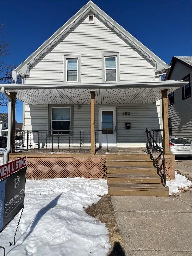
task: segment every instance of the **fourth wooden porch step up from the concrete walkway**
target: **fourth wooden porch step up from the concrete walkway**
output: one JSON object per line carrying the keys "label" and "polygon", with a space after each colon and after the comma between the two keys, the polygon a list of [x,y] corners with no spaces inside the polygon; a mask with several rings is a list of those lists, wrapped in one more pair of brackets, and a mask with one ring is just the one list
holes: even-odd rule
{"label": "fourth wooden porch step up from the concrete walkway", "polygon": [[107,160],[107,167],[110,166],[153,166],[151,159],[114,159]]}

